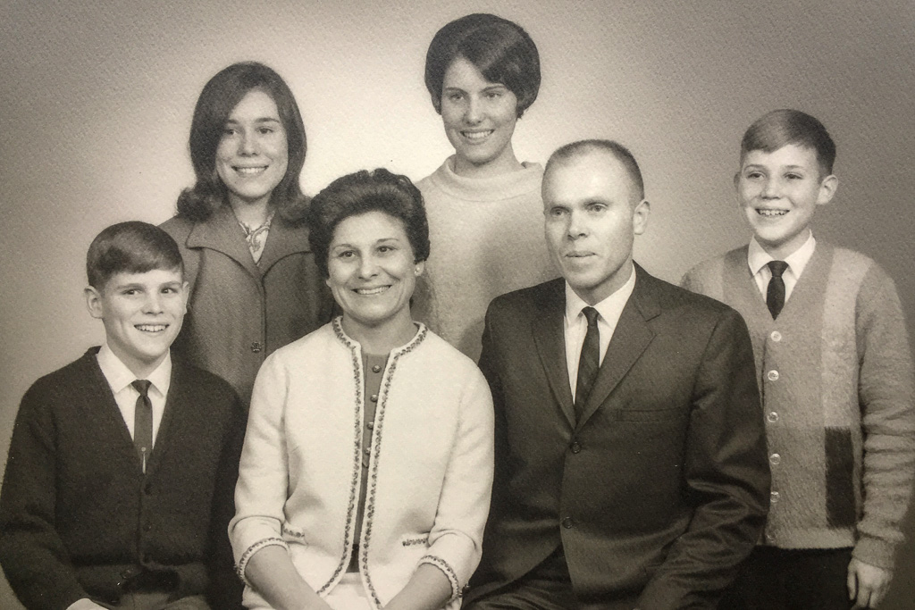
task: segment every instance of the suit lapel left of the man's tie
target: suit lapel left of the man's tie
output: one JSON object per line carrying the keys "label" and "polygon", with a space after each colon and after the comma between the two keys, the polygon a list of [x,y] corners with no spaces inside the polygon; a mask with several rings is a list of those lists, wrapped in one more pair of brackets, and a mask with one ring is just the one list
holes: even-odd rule
{"label": "suit lapel left of the man's tie", "polygon": [[544,301],[539,304],[543,315],[531,321],[533,339],[555,399],[559,402],[569,424],[575,427],[575,405],[565,365],[565,280],[554,281],[549,286],[549,291],[545,294]]}

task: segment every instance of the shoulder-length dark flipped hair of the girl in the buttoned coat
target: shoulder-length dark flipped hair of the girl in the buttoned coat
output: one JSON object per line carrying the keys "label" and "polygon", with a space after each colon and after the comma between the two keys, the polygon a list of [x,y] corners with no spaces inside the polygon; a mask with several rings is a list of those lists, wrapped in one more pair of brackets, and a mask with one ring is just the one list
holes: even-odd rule
{"label": "shoulder-length dark flipped hair of the girl in the buttoned coat", "polygon": [[216,149],[229,115],[249,91],[264,91],[276,104],[288,146],[288,166],[270,202],[277,215],[296,224],[304,220],[307,198],[298,184],[307,141],[302,115],[289,86],[274,70],[256,61],[232,64],[210,79],[200,92],[190,123],[190,160],[197,183],[178,197],[178,216],[202,222],[227,204],[226,187],[216,173]]}

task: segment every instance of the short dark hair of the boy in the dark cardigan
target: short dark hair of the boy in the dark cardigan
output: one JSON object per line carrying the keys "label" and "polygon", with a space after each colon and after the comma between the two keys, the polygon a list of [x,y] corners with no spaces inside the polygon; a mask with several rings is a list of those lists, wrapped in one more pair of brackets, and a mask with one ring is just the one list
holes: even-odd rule
{"label": "short dark hair of the boy in the dark cardigan", "polygon": [[180,269],[184,263],[178,244],[156,225],[139,220],[113,224],[102,230],[86,253],[89,285],[102,290],[116,273],[146,273]]}

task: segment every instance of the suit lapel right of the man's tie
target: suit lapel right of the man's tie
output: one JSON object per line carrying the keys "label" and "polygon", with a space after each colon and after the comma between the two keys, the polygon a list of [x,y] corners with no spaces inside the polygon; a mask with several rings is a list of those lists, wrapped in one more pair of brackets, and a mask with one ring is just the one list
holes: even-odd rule
{"label": "suit lapel right of the man's tie", "polygon": [[587,397],[585,409],[576,428],[584,425],[607,400],[610,392],[619,385],[619,381],[629,372],[636,360],[640,359],[654,338],[654,331],[648,325],[648,320],[660,314],[661,308],[651,292],[653,278],[638,265],[636,270],[635,288],[619,316],[604,361],[597,371],[594,388]]}

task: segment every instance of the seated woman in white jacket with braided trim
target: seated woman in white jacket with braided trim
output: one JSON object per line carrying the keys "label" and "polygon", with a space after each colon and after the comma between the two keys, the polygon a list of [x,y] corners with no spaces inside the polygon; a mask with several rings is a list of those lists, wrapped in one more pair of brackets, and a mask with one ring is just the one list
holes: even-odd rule
{"label": "seated woman in white jacket with braided trim", "polygon": [[229,532],[249,608],[457,608],[479,562],[492,402],[410,315],[422,196],[384,169],[331,183],[310,241],[343,311],[254,384]]}

